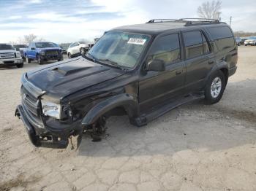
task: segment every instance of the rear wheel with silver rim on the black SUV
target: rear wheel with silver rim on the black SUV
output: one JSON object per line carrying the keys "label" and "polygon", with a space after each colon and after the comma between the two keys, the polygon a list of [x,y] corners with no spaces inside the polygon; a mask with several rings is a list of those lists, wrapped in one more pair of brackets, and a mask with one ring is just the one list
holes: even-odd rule
{"label": "rear wheel with silver rim on the black SUV", "polygon": [[222,71],[216,71],[212,74],[205,88],[206,104],[215,104],[222,98],[226,86],[225,75]]}

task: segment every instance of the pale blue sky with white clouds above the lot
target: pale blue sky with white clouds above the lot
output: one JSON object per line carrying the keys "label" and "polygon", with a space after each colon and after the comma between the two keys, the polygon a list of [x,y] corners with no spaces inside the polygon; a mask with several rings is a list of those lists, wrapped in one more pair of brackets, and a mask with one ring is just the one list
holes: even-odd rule
{"label": "pale blue sky with white clouds above the lot", "polygon": [[[206,0],[0,0],[0,42],[35,34],[50,42],[93,40],[117,26],[153,18],[197,17]],[[256,32],[255,0],[222,0],[223,22]]]}

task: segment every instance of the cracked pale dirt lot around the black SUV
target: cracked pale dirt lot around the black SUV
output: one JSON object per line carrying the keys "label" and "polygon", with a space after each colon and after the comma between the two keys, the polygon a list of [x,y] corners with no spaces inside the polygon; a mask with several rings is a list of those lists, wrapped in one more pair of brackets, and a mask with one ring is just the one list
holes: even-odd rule
{"label": "cracked pale dirt lot around the black SUV", "polygon": [[20,76],[0,69],[0,190],[256,190],[256,47],[239,47],[222,101],[178,107],[143,128],[108,121],[78,151],[33,147],[21,120]]}

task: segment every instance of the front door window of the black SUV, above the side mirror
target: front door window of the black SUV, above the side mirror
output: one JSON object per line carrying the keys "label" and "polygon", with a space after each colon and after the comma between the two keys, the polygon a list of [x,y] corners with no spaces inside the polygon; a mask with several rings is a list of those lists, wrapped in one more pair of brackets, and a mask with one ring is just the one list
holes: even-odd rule
{"label": "front door window of the black SUV, above the side mirror", "polygon": [[165,64],[181,59],[181,48],[178,34],[170,34],[156,39],[148,55],[148,61],[160,59]]}

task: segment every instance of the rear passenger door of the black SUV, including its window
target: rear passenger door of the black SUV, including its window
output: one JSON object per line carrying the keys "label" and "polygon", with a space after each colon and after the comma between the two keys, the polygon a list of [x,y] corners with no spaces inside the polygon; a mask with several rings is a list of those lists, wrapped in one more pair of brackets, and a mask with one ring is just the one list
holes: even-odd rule
{"label": "rear passenger door of the black SUV, including its window", "polygon": [[186,91],[202,90],[205,79],[214,66],[214,52],[211,52],[208,39],[203,31],[185,31],[182,33],[184,41]]}

